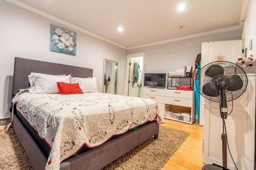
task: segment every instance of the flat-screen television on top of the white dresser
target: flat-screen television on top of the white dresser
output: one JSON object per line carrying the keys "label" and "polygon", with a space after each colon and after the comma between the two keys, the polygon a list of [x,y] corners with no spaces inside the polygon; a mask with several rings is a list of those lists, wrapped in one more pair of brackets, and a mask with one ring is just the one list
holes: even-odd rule
{"label": "flat-screen television on top of the white dresser", "polygon": [[165,88],[166,73],[145,73],[144,86],[154,88]]}

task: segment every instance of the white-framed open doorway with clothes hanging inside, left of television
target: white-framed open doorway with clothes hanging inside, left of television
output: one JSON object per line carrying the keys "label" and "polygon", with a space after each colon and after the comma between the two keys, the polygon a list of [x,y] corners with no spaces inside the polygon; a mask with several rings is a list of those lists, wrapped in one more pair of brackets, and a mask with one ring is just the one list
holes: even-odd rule
{"label": "white-framed open doorway with clothes hanging inside, left of television", "polygon": [[144,52],[128,54],[126,64],[125,96],[142,97],[144,81]]}

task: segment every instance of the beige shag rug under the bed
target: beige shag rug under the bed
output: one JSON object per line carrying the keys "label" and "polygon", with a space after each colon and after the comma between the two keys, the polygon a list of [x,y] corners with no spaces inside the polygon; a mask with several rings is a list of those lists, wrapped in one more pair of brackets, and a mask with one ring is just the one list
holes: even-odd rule
{"label": "beige shag rug under the bed", "polygon": [[[160,126],[157,140],[148,139],[102,170],[158,170],[188,137],[188,133]],[[13,129],[0,131],[0,170],[32,170]]]}

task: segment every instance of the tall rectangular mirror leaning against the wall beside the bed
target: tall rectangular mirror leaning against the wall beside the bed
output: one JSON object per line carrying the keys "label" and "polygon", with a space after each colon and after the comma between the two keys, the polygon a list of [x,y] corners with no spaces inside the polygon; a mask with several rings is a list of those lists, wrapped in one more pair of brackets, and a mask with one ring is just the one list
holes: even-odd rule
{"label": "tall rectangular mirror leaning against the wall beside the bed", "polygon": [[118,62],[104,59],[102,93],[118,94]]}

